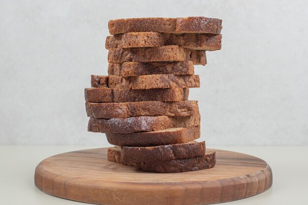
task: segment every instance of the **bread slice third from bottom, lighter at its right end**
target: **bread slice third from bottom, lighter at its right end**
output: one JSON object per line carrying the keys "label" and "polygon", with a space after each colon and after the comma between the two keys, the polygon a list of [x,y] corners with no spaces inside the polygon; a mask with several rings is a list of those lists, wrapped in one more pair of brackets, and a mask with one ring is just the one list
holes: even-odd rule
{"label": "bread slice third from bottom, lighter at its right end", "polygon": [[106,133],[108,142],[117,146],[159,146],[187,143],[200,138],[200,126],[179,127],[130,134]]}

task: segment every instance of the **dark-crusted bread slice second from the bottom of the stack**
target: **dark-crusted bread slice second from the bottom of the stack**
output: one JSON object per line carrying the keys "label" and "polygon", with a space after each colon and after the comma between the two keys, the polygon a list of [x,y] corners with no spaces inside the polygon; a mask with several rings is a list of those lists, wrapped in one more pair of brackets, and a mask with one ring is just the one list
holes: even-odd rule
{"label": "dark-crusted bread slice second from the bottom of the stack", "polygon": [[202,156],[205,153],[205,142],[190,141],[183,144],[161,146],[123,146],[121,157],[124,164],[136,162],[157,162],[172,159],[184,159]]}

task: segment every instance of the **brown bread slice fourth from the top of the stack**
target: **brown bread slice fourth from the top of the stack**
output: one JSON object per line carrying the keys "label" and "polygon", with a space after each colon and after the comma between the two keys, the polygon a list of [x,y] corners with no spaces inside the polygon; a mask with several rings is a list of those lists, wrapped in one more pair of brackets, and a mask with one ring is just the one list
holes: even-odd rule
{"label": "brown bread slice fourth from the top of the stack", "polygon": [[124,62],[109,63],[108,75],[141,76],[154,74],[193,75],[192,61],[184,62]]}

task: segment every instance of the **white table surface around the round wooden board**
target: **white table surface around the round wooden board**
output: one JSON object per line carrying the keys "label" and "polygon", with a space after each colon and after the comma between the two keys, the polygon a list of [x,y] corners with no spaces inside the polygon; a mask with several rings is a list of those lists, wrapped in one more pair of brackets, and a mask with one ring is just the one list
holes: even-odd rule
{"label": "white table surface around the round wooden board", "polygon": [[[0,205],[82,205],[53,197],[34,185],[34,169],[43,159],[94,146],[0,146]],[[308,146],[218,146],[267,161],[273,186],[266,192],[226,205],[308,205]]]}

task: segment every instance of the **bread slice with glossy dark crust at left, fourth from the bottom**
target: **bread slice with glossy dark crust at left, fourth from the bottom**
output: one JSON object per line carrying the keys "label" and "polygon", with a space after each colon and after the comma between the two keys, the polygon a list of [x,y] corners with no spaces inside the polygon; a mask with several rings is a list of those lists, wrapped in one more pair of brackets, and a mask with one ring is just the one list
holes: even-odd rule
{"label": "bread slice with glossy dark crust at left, fourth from the bottom", "polygon": [[200,126],[200,115],[188,117],[138,116],[127,118],[90,118],[88,131],[101,133],[151,132],[175,127]]}

